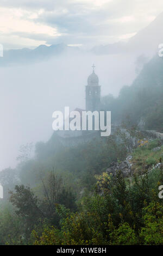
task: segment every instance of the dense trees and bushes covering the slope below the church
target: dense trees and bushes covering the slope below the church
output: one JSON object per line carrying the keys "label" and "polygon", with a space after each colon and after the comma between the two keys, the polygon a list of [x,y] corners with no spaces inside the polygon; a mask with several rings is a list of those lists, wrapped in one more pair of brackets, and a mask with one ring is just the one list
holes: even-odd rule
{"label": "dense trees and bushes covering the slope below the church", "polygon": [[[158,186],[163,184],[163,147],[153,151],[160,142],[145,141],[135,148],[131,160],[134,175],[124,178],[121,170],[114,175],[106,172],[112,161],[121,162],[126,157],[124,142],[116,143],[114,137],[96,139],[56,151],[52,159],[57,161],[61,153],[65,157],[60,169],[58,166],[39,175],[39,155],[21,163],[20,176],[26,174],[30,180],[32,175],[32,182],[29,187],[19,181],[7,194],[10,203],[1,203],[1,244],[162,244],[163,204]],[[89,147],[93,150],[88,154]],[[158,162],[160,166],[155,167]],[[27,167],[36,171],[37,180]]]}

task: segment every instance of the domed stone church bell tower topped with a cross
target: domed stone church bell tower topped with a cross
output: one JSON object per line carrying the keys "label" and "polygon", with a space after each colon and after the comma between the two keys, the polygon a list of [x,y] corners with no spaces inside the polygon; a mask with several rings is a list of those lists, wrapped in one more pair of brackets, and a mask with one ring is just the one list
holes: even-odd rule
{"label": "domed stone church bell tower topped with a cross", "polygon": [[95,74],[95,65],[92,66],[93,72],[87,78],[85,90],[86,111],[99,111],[101,100],[101,86],[99,86],[98,76]]}

